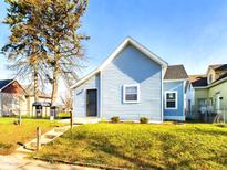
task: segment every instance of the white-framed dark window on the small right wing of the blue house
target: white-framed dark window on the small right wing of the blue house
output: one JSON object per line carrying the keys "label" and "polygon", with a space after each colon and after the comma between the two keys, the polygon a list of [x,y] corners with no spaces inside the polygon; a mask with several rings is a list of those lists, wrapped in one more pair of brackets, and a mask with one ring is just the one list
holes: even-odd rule
{"label": "white-framed dark window on the small right wing of the blue house", "polygon": [[165,108],[177,109],[177,92],[165,93]]}

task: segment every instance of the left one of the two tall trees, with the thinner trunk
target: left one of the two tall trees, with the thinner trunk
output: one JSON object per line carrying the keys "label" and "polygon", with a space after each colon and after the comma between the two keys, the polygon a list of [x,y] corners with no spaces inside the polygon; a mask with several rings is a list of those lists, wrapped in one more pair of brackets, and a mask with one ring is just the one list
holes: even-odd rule
{"label": "left one of the two tall trees, with the thinner trunk", "polygon": [[27,0],[7,0],[7,2],[8,15],[3,23],[10,26],[11,35],[2,52],[10,62],[9,68],[14,71],[20,79],[32,77],[34,98],[38,100],[38,79],[42,77],[47,51],[39,36],[39,24],[33,20],[35,9]]}

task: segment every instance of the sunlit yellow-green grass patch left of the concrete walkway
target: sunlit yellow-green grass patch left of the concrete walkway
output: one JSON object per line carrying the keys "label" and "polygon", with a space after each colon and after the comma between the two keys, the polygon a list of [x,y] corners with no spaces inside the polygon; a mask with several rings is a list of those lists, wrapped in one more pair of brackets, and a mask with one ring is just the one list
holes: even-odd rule
{"label": "sunlit yellow-green grass patch left of the concrete walkway", "polygon": [[22,119],[22,125],[14,125],[17,118],[0,118],[0,155],[9,155],[14,151],[18,144],[24,144],[35,138],[35,129],[41,127],[42,132],[56,125],[56,121],[43,119]]}

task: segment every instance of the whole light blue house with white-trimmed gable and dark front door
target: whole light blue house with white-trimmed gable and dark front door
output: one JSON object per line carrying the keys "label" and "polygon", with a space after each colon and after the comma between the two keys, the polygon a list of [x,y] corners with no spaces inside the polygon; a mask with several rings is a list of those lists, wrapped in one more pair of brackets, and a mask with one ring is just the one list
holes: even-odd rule
{"label": "whole light blue house with white-trimmed gable and dark front door", "polygon": [[103,64],[71,87],[73,114],[75,118],[185,120],[190,108],[188,84],[183,65],[168,66],[127,38]]}

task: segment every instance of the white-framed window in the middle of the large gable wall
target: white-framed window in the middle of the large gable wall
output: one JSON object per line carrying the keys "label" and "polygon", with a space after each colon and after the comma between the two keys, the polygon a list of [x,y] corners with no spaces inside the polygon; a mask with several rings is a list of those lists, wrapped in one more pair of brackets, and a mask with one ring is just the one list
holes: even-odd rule
{"label": "white-framed window in the middle of the large gable wall", "polygon": [[140,100],[140,86],[138,86],[138,84],[124,85],[123,100],[124,100],[124,103],[138,103],[138,100]]}

